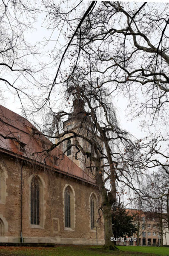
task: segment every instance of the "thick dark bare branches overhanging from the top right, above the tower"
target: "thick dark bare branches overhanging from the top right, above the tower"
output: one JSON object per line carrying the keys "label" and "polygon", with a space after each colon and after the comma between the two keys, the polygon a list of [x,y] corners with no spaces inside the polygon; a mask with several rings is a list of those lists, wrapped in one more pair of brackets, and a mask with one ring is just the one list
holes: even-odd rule
{"label": "thick dark bare branches overhanging from the top right, above the tower", "polygon": [[[160,166],[159,157],[163,161],[169,157],[165,130],[169,5],[79,1],[67,7],[62,1],[43,3],[50,13],[49,27],[62,31],[66,41],[62,50],[54,49],[57,71],[46,103],[54,87],[62,85],[66,90],[74,81],[111,100],[126,97],[130,118],[142,116],[141,125],[147,134],[150,131],[140,143],[143,167]],[[159,37],[155,39],[155,35]],[[65,60],[69,61],[66,68]]]}

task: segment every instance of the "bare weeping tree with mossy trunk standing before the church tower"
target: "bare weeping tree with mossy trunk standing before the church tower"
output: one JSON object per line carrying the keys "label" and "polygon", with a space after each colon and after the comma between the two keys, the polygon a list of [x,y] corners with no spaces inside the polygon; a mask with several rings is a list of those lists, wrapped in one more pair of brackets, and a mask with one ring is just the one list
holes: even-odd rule
{"label": "bare weeping tree with mossy trunk standing before the church tower", "polygon": [[[110,241],[112,205],[116,202],[117,195],[125,194],[126,186],[135,193],[141,193],[135,182],[137,177],[141,176],[140,162],[137,160],[139,152],[131,135],[119,128],[115,109],[108,102],[109,98],[104,92],[100,88],[92,88],[91,94],[88,89],[90,87],[76,84],[77,78],[68,87],[66,96],[72,98],[76,105],[73,113],[50,113],[52,122],[48,124],[48,130],[52,127],[52,134],[56,132],[53,136],[56,143],[49,150],[65,143],[68,145],[67,142],[71,140],[65,149],[62,147],[63,154],[72,148],[75,159],[81,158],[80,152],[84,156],[83,164],[92,173],[102,195],[99,211],[103,212],[104,217],[105,246],[113,249]],[[65,125],[68,114],[66,122],[69,123],[74,118],[78,122],[78,130],[75,123],[71,128]],[[87,148],[82,140],[86,141]]]}

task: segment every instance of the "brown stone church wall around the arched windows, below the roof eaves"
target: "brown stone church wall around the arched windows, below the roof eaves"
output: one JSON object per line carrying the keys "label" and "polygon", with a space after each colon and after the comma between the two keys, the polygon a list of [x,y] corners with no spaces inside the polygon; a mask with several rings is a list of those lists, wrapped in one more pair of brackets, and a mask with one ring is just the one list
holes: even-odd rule
{"label": "brown stone church wall around the arched windows, below the roof eaves", "polygon": [[[23,164],[23,241],[52,242],[57,244],[96,244],[96,230],[90,229],[90,196],[95,193],[97,209],[100,195],[96,186],[54,171],[40,169],[21,163],[14,157],[1,154],[1,176],[4,186],[0,187],[0,219],[3,221],[3,236],[0,242],[19,242],[21,231],[21,167]],[[30,185],[34,175],[40,179],[40,224],[30,222]],[[73,192],[71,229],[64,227],[64,189]],[[2,196],[3,195],[3,196]],[[98,217],[98,213],[96,215]],[[99,221],[98,244],[104,244],[103,217]]]}

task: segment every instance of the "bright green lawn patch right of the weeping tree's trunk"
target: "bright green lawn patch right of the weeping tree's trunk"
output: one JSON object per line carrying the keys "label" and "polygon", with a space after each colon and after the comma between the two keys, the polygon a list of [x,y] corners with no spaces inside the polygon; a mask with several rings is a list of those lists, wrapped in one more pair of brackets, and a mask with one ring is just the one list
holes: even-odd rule
{"label": "bright green lawn patch right of the weeping tree's trunk", "polygon": [[169,247],[149,247],[149,246],[117,246],[126,252],[154,253],[161,256],[169,256]]}

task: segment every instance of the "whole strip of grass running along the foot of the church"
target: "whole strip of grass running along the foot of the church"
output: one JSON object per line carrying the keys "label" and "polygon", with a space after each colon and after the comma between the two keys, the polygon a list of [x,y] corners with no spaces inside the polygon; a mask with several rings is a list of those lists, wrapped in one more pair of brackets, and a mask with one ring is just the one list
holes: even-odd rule
{"label": "whole strip of grass running along the foot of the church", "polygon": [[117,247],[120,250],[104,250],[102,246],[0,247],[0,256],[169,256],[166,247]]}

